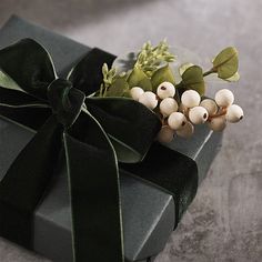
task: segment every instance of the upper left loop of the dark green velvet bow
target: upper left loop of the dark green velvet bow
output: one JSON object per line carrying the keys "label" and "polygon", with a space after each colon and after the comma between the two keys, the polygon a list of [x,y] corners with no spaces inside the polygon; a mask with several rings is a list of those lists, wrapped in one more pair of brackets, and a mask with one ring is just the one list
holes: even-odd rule
{"label": "upper left loop of the dark green velvet bow", "polygon": [[[0,50],[0,71],[8,81],[0,79],[3,88],[18,89],[41,100],[47,100],[48,85],[56,79],[56,71],[47,50],[32,39]],[[16,84],[13,84],[16,83]]]}

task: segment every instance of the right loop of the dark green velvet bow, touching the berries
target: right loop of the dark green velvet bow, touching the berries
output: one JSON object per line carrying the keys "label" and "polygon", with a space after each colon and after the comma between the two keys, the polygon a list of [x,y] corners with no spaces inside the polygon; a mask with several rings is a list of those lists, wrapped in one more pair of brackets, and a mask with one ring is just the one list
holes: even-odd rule
{"label": "right loop of the dark green velvet bow, touching the berries", "polygon": [[85,101],[88,111],[109,135],[118,161],[141,161],[161,128],[157,114],[128,98],[87,98]]}

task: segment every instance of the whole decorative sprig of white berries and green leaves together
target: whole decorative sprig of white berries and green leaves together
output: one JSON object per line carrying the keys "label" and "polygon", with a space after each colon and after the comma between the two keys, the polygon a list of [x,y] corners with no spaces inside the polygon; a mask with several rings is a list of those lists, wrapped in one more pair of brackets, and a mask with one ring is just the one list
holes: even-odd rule
{"label": "whole decorative sprig of white berries and green leaves together", "polygon": [[199,66],[182,64],[179,83],[169,66],[174,58],[165,41],[157,47],[145,43],[129,71],[120,70],[118,74],[117,69],[103,67],[104,83],[100,95],[130,97],[155,112],[162,122],[158,140],[163,143],[171,142],[174,135],[190,138],[198,124],[206,123],[211,130],[222,131],[228,122],[236,123],[243,118],[243,110],[234,104],[232,91],[222,89],[214,99],[204,95],[204,78],[209,74],[228,82],[239,80],[235,48],[222,50],[205,72]]}

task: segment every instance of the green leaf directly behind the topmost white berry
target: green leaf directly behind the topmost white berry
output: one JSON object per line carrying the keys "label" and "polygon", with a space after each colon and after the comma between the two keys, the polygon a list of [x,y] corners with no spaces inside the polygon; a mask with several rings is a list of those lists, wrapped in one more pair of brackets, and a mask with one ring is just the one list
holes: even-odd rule
{"label": "green leaf directly behind the topmost white berry", "polygon": [[175,84],[174,75],[173,75],[173,72],[172,72],[171,68],[169,67],[169,64],[158,69],[153,73],[153,75],[151,78],[151,82],[153,85],[153,92],[157,91],[160,83],[165,82],[165,81]]}

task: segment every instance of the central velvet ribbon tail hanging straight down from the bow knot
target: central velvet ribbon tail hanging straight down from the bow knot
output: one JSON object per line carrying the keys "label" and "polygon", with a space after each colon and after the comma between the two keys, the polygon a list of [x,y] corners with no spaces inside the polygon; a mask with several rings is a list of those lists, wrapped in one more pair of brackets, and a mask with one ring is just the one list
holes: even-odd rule
{"label": "central velvet ribbon tail hanging straight down from the bow knot", "polygon": [[81,119],[88,120],[80,124],[85,130],[75,128],[77,135],[64,133],[74,261],[123,262],[115,153],[91,115],[80,115],[72,129]]}

